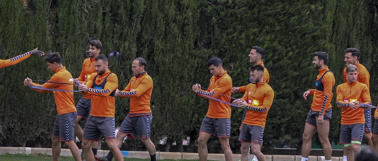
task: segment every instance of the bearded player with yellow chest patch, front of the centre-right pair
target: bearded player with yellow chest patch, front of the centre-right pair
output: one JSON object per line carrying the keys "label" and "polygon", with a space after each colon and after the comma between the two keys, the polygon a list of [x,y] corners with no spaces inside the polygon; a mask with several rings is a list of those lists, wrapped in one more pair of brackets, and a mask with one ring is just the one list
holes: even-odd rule
{"label": "bearded player with yellow chest patch, front of the centre-right pair", "polygon": [[[248,84],[244,96],[232,102],[239,107],[248,109],[240,131],[239,141],[242,146],[242,161],[248,161],[249,146],[259,161],[265,161],[260,151],[260,144],[264,134],[266,115],[273,103],[274,91],[263,79],[264,67],[254,65],[251,67],[252,83]],[[251,145],[252,143],[252,145]]]}

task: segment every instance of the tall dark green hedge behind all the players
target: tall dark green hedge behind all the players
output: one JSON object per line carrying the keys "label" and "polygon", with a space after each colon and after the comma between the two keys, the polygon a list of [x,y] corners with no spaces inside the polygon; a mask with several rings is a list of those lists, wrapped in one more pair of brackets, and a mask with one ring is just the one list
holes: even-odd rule
{"label": "tall dark green hedge behind all the players", "polygon": [[[208,109],[208,100],[196,96],[191,86],[207,87],[211,74],[206,62],[223,60],[234,87],[248,84],[248,53],[262,46],[263,61],[275,91],[264,132],[264,149],[301,146],[311,99],[303,92],[314,88],[318,71],[313,53],[330,55],[329,67],[341,84],[344,49],[360,50],[360,62],[370,71],[373,104],[377,95],[378,0],[2,0],[0,2],[1,59],[39,47],[59,52],[63,64],[78,77],[87,58],[88,38],[98,37],[102,54],[117,50],[121,56],[110,70],[119,88],[132,77],[132,60],[143,57],[154,80],[151,139],[181,144],[195,140]],[[26,77],[47,80],[53,72],[43,58],[35,57],[0,70],[0,141],[5,146],[51,147],[56,107],[52,94],[23,86]],[[335,94],[336,95],[336,94]],[[233,94],[241,97],[242,94]],[[75,94],[75,102],[81,94]],[[333,103],[329,138],[339,140],[340,109]],[[129,111],[129,99],[116,99],[119,126]],[[230,145],[240,153],[239,125],[242,109],[232,108]],[[316,138],[316,137],[315,137]],[[315,140],[315,139],[314,139]],[[127,140],[143,147],[138,140]],[[212,139],[209,152],[222,152]]]}

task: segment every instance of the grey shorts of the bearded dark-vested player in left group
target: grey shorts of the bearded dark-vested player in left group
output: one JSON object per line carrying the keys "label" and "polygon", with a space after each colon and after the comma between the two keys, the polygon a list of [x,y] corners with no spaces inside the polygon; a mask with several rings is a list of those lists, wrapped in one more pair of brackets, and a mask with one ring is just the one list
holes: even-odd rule
{"label": "grey shorts of the bearded dark-vested player in left group", "polygon": [[101,134],[105,140],[116,138],[114,117],[97,117],[89,115],[84,128],[83,140],[100,141]]}

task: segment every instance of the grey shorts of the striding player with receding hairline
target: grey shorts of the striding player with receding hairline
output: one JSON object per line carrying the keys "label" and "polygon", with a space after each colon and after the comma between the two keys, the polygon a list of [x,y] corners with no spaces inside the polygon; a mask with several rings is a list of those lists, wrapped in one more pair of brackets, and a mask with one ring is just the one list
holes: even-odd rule
{"label": "grey shorts of the striding player with receding hairline", "polygon": [[140,139],[150,138],[152,113],[127,114],[118,132]]}

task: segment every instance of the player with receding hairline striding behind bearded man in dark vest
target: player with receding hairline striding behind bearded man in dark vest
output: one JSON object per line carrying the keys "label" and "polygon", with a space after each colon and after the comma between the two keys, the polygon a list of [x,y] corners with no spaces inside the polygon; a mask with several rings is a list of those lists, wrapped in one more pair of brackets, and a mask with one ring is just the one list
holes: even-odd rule
{"label": "player with receding hairline striding behind bearded man in dark vest", "polygon": [[[145,70],[147,62],[143,58],[136,58],[133,61],[131,70],[133,77],[123,91],[116,91],[118,97],[130,97],[130,112],[121,124],[117,133],[116,142],[118,148],[121,148],[125,137],[135,138],[137,136],[142,140],[150,154],[151,161],[156,161],[155,145],[150,140],[152,111],[150,100],[153,88],[152,78]],[[111,161],[113,153],[109,152],[105,157],[98,157],[101,161]]]}

